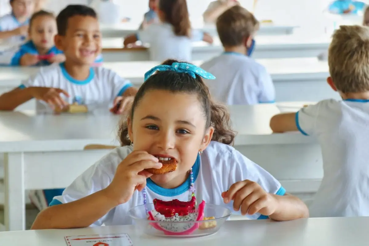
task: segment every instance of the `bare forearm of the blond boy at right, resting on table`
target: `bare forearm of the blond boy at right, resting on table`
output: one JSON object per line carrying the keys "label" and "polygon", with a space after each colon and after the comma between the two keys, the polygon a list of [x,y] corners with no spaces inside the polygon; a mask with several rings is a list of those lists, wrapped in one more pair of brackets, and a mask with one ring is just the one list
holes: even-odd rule
{"label": "bare forearm of the blond boy at right, resting on table", "polygon": [[273,132],[298,131],[296,113],[277,114],[270,119],[270,128]]}

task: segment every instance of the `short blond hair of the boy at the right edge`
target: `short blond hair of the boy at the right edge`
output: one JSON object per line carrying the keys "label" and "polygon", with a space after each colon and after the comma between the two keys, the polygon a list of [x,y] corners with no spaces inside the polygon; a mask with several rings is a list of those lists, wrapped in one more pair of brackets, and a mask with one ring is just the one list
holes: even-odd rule
{"label": "short blond hair of the boy at the right edge", "polygon": [[328,65],[338,91],[369,91],[369,27],[339,27],[329,46]]}

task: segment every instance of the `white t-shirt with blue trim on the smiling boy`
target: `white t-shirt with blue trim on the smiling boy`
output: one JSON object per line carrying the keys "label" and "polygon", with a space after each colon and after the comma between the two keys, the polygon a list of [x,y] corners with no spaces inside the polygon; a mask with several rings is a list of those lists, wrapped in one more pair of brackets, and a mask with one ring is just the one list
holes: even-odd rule
{"label": "white t-shirt with blue trim on the smiling boy", "polygon": [[[52,87],[67,91],[67,98],[62,98],[69,104],[78,101],[85,105],[112,105],[117,96],[121,96],[128,88],[133,87],[129,80],[123,79],[117,73],[104,67],[91,67],[86,80],[76,80],[65,70],[64,63],[41,67],[39,72],[24,82],[24,87]],[[51,112],[44,101],[37,101],[37,112]]]}

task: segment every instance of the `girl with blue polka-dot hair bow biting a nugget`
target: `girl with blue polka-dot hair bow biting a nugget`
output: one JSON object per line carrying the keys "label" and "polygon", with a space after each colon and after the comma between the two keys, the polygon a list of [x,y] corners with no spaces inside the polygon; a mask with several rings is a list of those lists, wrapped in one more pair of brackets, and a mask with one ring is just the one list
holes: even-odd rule
{"label": "girl with blue polka-dot hair bow biting a nugget", "polygon": [[[130,208],[154,198],[188,201],[193,195],[250,219],[308,217],[299,198],[286,194],[272,175],[230,146],[235,137],[230,115],[211,100],[201,77],[214,76],[176,60],[147,72],[120,129],[122,147],[55,197],[32,229],[129,225]],[[160,169],[163,158],[175,159],[176,170],[146,171]]]}

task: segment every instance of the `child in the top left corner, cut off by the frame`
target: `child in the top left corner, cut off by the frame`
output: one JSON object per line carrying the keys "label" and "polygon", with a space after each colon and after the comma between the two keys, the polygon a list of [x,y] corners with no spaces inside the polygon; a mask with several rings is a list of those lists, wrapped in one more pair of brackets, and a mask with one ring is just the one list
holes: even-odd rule
{"label": "child in the top left corner, cut off by the frame", "polygon": [[0,39],[6,39],[8,43],[25,41],[34,5],[34,0],[10,0],[11,14],[0,18]]}

